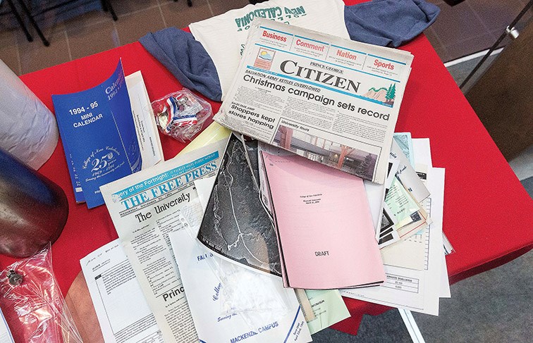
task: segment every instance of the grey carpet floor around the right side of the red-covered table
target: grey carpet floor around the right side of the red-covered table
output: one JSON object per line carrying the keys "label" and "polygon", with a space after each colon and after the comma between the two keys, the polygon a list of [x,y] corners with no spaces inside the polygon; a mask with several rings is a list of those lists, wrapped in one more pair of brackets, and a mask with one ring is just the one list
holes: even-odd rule
{"label": "grey carpet floor around the right side of the red-covered table", "polygon": [[[448,71],[460,84],[479,59],[455,64]],[[492,60],[494,57],[489,63]],[[533,170],[533,163],[527,163],[526,168]],[[533,177],[521,182],[533,199]],[[533,251],[451,285],[451,296],[441,299],[438,317],[413,313],[427,343],[533,342]],[[313,335],[313,342],[412,341],[398,311],[391,310],[380,316],[364,316],[357,336],[326,329]]]}

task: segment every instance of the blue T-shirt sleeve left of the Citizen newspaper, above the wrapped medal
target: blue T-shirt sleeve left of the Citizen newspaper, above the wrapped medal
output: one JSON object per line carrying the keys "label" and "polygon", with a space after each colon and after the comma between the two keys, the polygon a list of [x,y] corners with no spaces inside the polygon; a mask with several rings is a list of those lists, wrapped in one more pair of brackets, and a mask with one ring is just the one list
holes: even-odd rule
{"label": "blue T-shirt sleeve left of the Citizen newspaper, above the wrapped medal", "polygon": [[139,39],[142,46],[178,79],[209,99],[221,101],[219,74],[204,46],[176,27],[150,32]]}

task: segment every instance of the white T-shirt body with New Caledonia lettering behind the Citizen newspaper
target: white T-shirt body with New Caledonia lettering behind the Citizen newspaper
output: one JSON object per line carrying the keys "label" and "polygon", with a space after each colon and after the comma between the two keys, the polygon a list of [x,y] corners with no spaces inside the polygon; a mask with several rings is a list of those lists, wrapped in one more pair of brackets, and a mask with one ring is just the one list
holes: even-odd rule
{"label": "white T-shirt body with New Caledonia lettering behind the Citizen newspaper", "polygon": [[231,87],[254,18],[269,18],[350,39],[342,0],[270,0],[192,23],[190,32],[202,43],[219,73],[222,99]]}

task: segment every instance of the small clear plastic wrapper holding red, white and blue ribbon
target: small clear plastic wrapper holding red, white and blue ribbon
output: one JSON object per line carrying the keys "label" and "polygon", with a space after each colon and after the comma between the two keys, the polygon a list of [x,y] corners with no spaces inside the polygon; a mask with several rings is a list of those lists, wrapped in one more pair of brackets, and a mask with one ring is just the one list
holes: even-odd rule
{"label": "small clear plastic wrapper holding red, white and blue ribbon", "polygon": [[180,142],[190,141],[213,114],[211,104],[186,88],[152,101],[152,110],[159,130]]}

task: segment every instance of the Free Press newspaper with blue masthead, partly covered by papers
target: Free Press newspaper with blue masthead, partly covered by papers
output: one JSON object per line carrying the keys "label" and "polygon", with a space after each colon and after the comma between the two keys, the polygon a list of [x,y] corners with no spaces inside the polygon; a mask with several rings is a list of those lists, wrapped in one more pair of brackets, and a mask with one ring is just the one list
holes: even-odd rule
{"label": "Free Press newspaper with blue masthead, partly covered by papers", "polygon": [[195,225],[186,216],[202,218],[194,181],[215,175],[225,146],[222,139],[100,188],[164,342],[198,342],[169,232]]}

